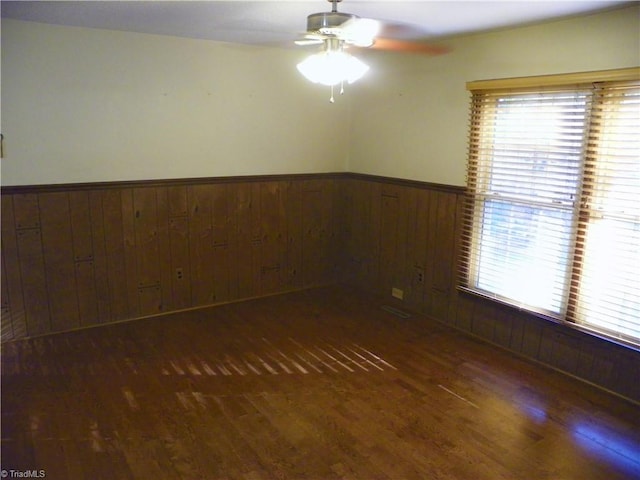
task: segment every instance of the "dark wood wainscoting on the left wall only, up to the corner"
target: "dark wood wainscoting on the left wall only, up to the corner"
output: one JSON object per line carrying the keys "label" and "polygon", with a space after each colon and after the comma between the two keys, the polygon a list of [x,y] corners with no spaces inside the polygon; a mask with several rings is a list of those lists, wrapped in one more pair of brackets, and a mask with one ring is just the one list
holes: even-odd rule
{"label": "dark wood wainscoting on the left wall only, up to the corner", "polygon": [[2,191],[2,340],[337,280],[336,175]]}

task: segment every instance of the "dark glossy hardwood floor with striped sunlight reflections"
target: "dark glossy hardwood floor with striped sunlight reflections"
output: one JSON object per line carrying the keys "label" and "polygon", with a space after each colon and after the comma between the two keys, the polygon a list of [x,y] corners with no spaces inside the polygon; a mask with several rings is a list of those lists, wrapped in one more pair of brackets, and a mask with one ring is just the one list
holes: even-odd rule
{"label": "dark glossy hardwood floor with striped sunlight reflections", "polygon": [[380,307],[332,287],[5,343],[2,469],[640,478],[637,405]]}

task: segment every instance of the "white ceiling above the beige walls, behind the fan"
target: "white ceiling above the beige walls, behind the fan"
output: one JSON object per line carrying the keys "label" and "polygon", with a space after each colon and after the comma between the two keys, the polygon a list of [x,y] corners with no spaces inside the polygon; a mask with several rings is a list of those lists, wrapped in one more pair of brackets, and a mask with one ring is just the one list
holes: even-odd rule
{"label": "white ceiling above the beige walls, behind the fan", "polygon": [[[438,38],[617,8],[627,1],[345,0],[338,10],[415,27],[411,38]],[[292,45],[326,0],[2,1],[2,17],[223,42]],[[407,38],[407,35],[404,35]]]}

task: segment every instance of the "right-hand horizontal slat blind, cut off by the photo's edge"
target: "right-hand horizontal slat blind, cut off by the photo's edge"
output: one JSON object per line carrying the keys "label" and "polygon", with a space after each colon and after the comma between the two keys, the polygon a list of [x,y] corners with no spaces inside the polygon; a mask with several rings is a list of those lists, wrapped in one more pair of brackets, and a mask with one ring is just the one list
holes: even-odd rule
{"label": "right-hand horizontal slat blind, cut off by the photo's edge", "polygon": [[599,85],[583,175],[572,320],[640,343],[640,86]]}

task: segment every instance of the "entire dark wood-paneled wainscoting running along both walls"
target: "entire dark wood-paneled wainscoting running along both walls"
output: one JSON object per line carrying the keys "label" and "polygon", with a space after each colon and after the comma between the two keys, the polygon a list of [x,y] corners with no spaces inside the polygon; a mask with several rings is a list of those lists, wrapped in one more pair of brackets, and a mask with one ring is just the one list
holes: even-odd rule
{"label": "entire dark wood-paneled wainscoting running along both walls", "polygon": [[640,402],[638,350],[457,289],[463,195],[352,173],[4,188],[2,340],[345,282]]}

